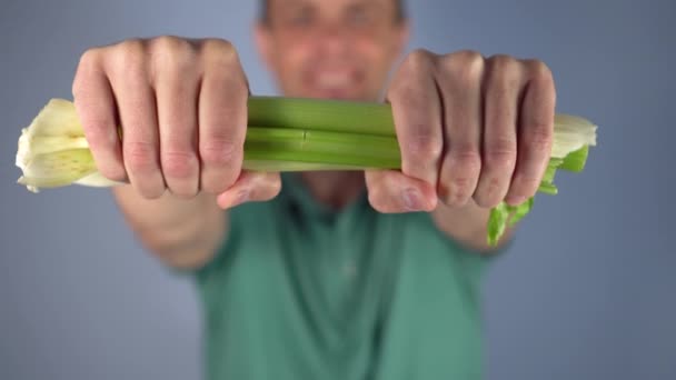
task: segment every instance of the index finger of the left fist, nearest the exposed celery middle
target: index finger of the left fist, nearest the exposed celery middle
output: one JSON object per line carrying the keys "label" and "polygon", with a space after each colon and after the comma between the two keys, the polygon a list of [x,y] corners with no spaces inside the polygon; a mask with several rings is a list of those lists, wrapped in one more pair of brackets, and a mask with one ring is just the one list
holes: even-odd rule
{"label": "index finger of the left fist, nearest the exposed celery middle", "polygon": [[206,62],[199,96],[199,154],[205,191],[221,193],[240,174],[248,94],[246,77],[236,56],[221,52]]}

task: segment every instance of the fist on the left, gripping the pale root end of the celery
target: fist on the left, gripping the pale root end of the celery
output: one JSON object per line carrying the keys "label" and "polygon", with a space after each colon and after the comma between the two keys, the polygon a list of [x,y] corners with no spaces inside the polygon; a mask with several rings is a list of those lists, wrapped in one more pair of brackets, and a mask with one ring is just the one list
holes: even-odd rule
{"label": "fist on the left, gripping the pale root end of the celery", "polygon": [[249,89],[228,41],[159,37],[93,48],[72,92],[99,171],[142,199],[202,191],[229,208],[279,192],[279,174],[241,172]]}

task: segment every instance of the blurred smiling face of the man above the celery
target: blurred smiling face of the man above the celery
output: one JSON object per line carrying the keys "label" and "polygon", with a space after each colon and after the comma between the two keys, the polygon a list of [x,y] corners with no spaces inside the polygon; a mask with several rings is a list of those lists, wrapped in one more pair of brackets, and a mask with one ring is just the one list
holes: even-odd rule
{"label": "blurred smiling face of the man above the celery", "polygon": [[270,0],[259,51],[288,97],[377,100],[408,38],[395,0]]}

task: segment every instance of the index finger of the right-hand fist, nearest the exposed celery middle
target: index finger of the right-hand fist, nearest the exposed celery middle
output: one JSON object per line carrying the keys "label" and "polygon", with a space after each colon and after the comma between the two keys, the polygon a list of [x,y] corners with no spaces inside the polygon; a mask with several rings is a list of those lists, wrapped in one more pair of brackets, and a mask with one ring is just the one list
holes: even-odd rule
{"label": "index finger of the right-hand fist, nearest the exposed celery middle", "polygon": [[411,53],[387,94],[401,150],[401,172],[431,186],[437,183],[444,149],[441,103],[434,70],[431,53]]}

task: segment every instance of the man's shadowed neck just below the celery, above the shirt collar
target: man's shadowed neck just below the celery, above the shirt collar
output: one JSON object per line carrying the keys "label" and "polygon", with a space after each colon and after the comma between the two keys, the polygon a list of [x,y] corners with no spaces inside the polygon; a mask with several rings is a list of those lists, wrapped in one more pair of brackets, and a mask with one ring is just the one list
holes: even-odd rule
{"label": "man's shadowed neck just below the celery, above the shirt collar", "polygon": [[355,201],[365,187],[361,171],[309,171],[301,178],[312,197],[332,209]]}

